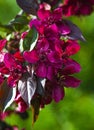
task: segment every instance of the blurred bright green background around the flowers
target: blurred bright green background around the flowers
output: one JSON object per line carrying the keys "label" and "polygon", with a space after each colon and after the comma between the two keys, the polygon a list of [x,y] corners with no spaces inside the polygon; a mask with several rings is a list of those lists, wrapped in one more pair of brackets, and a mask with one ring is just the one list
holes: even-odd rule
{"label": "blurred bright green background around the flowers", "polygon": [[[0,0],[0,22],[8,23],[19,10],[15,0]],[[60,103],[53,102],[41,110],[34,126],[31,110],[28,119],[16,114],[8,117],[7,123],[18,125],[19,130],[94,130],[94,13],[70,19],[86,38],[85,43],[80,43],[80,52],[74,56],[82,66],[82,71],[77,74],[82,83],[76,89],[66,89],[66,96]]]}

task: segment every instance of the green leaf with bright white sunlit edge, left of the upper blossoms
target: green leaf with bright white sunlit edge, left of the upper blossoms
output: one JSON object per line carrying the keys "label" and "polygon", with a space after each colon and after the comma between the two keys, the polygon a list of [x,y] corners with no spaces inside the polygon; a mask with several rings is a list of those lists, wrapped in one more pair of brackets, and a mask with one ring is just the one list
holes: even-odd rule
{"label": "green leaf with bright white sunlit edge, left of the upper blossoms", "polygon": [[38,33],[37,30],[33,27],[27,34],[27,36],[25,37],[25,39],[23,40],[23,48],[24,50],[32,50],[38,40]]}

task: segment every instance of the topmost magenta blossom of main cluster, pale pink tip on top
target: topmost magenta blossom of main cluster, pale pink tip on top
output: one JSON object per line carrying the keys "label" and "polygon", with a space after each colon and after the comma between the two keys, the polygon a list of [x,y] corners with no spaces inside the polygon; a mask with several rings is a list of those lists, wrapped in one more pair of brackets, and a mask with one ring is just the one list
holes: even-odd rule
{"label": "topmost magenta blossom of main cluster, pale pink tip on top", "polygon": [[[40,9],[38,10],[38,17],[40,20],[34,19],[30,22],[30,27],[35,26],[40,34],[47,35],[59,35],[61,34],[69,34],[70,29],[65,23],[62,22],[62,8],[56,8],[53,12],[51,12],[51,7],[46,3],[40,5]],[[51,33],[51,32],[52,33]],[[48,37],[48,36],[46,36]],[[51,37],[51,36],[50,36]],[[54,36],[53,36],[54,37]],[[53,38],[52,37],[52,38]]]}

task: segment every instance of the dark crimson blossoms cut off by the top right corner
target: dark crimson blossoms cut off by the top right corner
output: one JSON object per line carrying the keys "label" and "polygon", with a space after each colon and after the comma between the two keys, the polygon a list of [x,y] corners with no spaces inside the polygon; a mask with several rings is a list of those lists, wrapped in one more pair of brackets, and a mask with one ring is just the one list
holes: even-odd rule
{"label": "dark crimson blossoms cut off by the top right corner", "polygon": [[63,14],[71,15],[89,15],[94,10],[94,0],[64,0]]}

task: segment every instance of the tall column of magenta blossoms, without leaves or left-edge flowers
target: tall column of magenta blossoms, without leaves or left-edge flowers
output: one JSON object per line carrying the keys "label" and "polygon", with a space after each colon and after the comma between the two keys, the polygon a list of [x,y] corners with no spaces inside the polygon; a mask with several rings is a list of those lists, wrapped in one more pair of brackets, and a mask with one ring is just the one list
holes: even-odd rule
{"label": "tall column of magenta blossoms, without leaves or left-edge flowers", "polygon": [[[46,3],[40,5],[39,19],[30,21],[30,28],[35,27],[39,33],[36,46],[31,51],[24,51],[24,59],[33,65],[34,74],[46,78],[45,96],[41,107],[52,100],[59,102],[64,98],[64,87],[78,87],[80,80],[72,74],[81,70],[80,65],[70,59],[80,50],[76,40],[63,40],[61,36],[70,35],[72,28],[62,19],[62,8],[51,11]],[[73,26],[73,25],[72,25]],[[74,26],[73,26],[74,27]]]}

